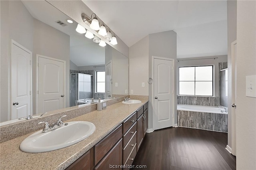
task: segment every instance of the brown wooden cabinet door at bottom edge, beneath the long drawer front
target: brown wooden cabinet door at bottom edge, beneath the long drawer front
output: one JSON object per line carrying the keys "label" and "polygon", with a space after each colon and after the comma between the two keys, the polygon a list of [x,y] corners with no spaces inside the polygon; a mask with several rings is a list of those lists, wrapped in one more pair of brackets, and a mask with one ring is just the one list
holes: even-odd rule
{"label": "brown wooden cabinet door at bottom edge, beneath the long drawer front", "polygon": [[[122,138],[116,143],[116,145],[104,156],[104,158],[98,163],[94,170],[107,170],[110,166],[122,165]],[[121,170],[122,168],[115,168]]]}

